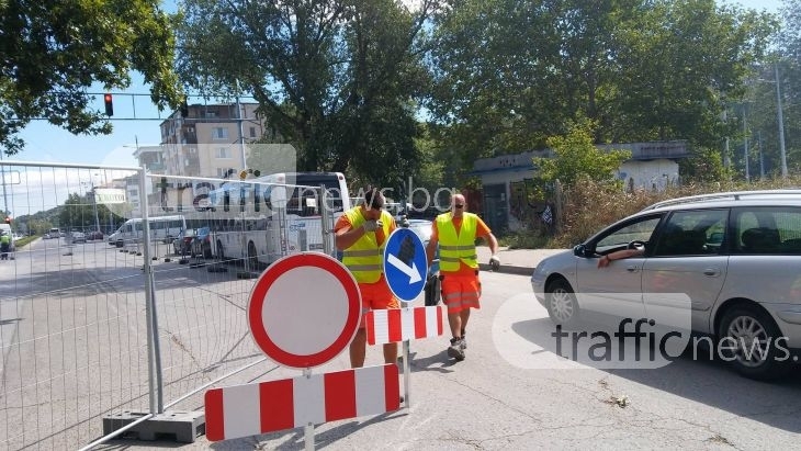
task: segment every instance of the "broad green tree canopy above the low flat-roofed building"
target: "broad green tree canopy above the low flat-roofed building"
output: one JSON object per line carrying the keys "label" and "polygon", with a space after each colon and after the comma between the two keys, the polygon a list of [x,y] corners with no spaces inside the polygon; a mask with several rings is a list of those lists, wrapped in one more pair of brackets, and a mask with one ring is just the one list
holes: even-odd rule
{"label": "broad green tree canopy above the low flat-roofed building", "polygon": [[580,117],[596,144],[720,148],[724,104],[777,22],[714,0],[461,0],[437,25],[429,109],[465,170],[543,148]]}

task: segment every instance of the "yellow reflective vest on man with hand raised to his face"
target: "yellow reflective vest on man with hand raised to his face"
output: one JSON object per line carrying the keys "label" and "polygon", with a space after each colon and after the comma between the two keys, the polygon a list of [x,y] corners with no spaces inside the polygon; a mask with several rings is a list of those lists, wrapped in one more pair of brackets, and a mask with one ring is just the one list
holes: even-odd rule
{"label": "yellow reflective vest on man with hand raised to his face", "polygon": [[[366,219],[362,216],[361,207],[357,206],[345,212],[350,221],[351,228],[359,228]],[[359,283],[375,283],[384,272],[384,246],[390,238],[390,225],[392,215],[385,210],[381,211],[381,222],[384,224],[384,243],[379,246],[375,239],[375,232],[365,232],[353,246],[342,252],[342,264],[353,274]]]}

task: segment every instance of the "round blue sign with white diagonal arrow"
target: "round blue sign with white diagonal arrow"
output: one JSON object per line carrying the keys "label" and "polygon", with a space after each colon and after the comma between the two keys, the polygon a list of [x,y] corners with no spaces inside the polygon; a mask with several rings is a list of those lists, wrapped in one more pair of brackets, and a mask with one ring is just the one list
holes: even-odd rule
{"label": "round blue sign with white diagonal arrow", "polygon": [[408,228],[396,228],[384,248],[384,277],[398,300],[413,302],[426,287],[428,261],[420,237]]}

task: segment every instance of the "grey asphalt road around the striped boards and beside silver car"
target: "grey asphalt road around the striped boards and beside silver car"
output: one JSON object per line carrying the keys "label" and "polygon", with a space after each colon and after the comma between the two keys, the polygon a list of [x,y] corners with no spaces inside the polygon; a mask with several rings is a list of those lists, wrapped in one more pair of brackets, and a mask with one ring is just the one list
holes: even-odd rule
{"label": "grey asphalt road around the striped boards and beside silver car", "polygon": [[[760,383],[723,362],[685,354],[654,370],[548,368],[553,330],[523,275],[484,273],[483,308],[469,327],[467,357],[447,337],[410,343],[408,409],[324,424],[317,449],[798,449],[801,377]],[[366,364],[381,363],[379,348]],[[348,368],[346,353],[315,373]],[[264,362],[229,384],[279,380],[296,370]],[[402,375],[402,377],[404,377]],[[403,381],[402,381],[403,386]],[[196,408],[202,408],[200,404]],[[114,440],[100,449],[300,450],[292,429],[216,443]]]}

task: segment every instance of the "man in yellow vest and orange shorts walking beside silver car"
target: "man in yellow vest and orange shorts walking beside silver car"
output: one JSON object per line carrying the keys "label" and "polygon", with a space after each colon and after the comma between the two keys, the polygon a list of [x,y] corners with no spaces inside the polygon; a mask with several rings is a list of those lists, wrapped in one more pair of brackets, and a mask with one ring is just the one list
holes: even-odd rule
{"label": "man in yellow vest and orange shorts walking beside silver car", "polygon": [[448,307],[448,323],[451,327],[451,345],[448,356],[464,360],[467,349],[465,332],[471,308],[481,308],[482,292],[478,280],[478,257],[475,239],[484,238],[489,245],[490,267],[497,269],[500,260],[496,256],[498,240],[476,214],[465,212],[464,195],[454,194],[451,211],[437,216],[431,225],[431,239],[426,247],[428,263],[431,264],[439,246],[439,270],[442,302]]}

